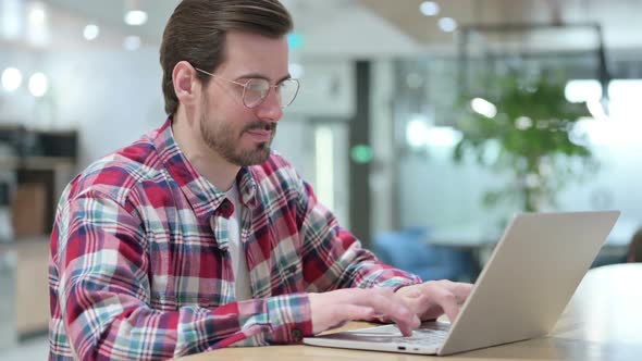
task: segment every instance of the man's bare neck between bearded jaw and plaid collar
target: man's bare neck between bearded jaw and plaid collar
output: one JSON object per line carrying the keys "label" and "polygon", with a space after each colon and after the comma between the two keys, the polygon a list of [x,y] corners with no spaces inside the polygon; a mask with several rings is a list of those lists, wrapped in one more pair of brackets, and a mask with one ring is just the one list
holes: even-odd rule
{"label": "man's bare neck between bearded jaw and plaid collar", "polygon": [[221,154],[210,149],[200,135],[198,120],[180,107],[172,122],[174,139],[196,171],[217,189],[227,191],[240,166],[230,163]]}

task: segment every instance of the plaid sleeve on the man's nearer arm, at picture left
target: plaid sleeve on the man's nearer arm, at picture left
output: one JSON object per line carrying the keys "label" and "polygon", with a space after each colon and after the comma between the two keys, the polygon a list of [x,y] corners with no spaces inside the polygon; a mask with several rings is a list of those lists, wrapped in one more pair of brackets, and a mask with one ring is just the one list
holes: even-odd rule
{"label": "plaid sleeve on the man's nearer arm, at picture left", "polygon": [[57,302],[76,358],[166,359],[246,338],[268,344],[312,334],[306,294],[175,311],[149,307],[145,231],[133,207],[87,191],[59,210],[52,234]]}

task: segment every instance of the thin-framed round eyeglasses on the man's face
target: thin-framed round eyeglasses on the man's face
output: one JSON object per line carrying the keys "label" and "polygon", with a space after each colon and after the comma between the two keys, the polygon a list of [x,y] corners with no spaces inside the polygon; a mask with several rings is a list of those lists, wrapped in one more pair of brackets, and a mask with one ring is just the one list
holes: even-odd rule
{"label": "thin-framed round eyeglasses on the man's face", "polygon": [[281,108],[286,108],[287,105],[292,104],[299,91],[299,82],[293,78],[285,79],[272,86],[268,79],[263,78],[250,78],[246,83],[239,83],[214,75],[198,67],[195,67],[195,70],[214,78],[243,87],[243,95],[240,96],[243,99],[243,104],[249,109],[257,108],[262,104],[270,94],[270,88],[274,88]]}

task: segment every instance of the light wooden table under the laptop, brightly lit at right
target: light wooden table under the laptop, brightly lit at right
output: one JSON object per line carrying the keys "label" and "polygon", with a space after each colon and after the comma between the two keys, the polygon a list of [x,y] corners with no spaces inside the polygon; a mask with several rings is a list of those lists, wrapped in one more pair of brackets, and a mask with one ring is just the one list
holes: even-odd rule
{"label": "light wooden table under the laptop, brightly lit at right", "polygon": [[[351,323],[349,328],[368,326]],[[182,358],[203,360],[427,360],[427,356],[313,346],[227,348]],[[642,263],[594,269],[547,337],[437,358],[442,360],[642,360]]]}

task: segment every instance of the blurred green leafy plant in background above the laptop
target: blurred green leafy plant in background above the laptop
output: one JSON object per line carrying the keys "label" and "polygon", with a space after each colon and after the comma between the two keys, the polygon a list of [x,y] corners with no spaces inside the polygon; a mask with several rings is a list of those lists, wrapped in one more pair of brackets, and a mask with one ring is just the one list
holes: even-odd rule
{"label": "blurred green leafy plant in background above the laptop", "polygon": [[[454,160],[472,155],[479,164],[510,175],[509,184],[485,192],[487,206],[517,201],[527,212],[554,209],[559,190],[597,166],[591,149],[573,134],[578,120],[589,116],[587,107],[568,102],[564,83],[545,76],[509,75],[493,84],[485,100],[471,102],[468,97],[471,105],[457,124],[462,137]],[[481,114],[474,101],[491,111]]]}

